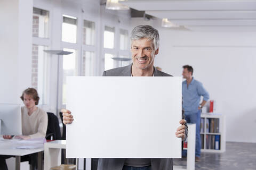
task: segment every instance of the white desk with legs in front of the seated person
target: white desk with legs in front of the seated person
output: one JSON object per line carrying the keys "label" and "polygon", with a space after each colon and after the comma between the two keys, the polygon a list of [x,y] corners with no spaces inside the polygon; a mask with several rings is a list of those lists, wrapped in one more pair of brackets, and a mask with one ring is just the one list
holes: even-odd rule
{"label": "white desk with legs in front of the seated person", "polygon": [[16,147],[20,145],[20,143],[17,143],[17,140],[0,139],[0,155],[15,156],[15,169],[20,170],[20,157],[38,152],[38,170],[42,170],[42,152],[44,148],[17,149]]}

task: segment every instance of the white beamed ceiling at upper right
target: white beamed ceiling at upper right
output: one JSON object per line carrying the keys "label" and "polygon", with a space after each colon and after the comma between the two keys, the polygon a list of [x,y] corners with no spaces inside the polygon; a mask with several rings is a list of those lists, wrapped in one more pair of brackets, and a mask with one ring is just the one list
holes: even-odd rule
{"label": "white beamed ceiling at upper right", "polygon": [[127,0],[119,3],[192,30],[256,31],[256,0]]}

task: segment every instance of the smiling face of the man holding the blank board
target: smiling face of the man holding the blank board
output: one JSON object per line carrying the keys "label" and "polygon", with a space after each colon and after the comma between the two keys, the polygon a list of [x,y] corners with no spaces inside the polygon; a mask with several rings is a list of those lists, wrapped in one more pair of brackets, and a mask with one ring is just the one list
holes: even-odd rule
{"label": "smiling face of the man holding the blank board", "polygon": [[138,69],[146,69],[153,66],[155,55],[158,54],[158,49],[154,50],[153,40],[141,38],[132,41],[132,62]]}

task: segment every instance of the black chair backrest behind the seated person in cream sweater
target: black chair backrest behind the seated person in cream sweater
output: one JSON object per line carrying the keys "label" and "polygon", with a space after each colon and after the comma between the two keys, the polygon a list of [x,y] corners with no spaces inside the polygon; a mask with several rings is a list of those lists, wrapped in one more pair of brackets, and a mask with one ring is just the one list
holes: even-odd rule
{"label": "black chair backrest behind the seated person in cream sweater", "polygon": [[[61,140],[61,133],[60,133],[60,125],[59,120],[56,115],[51,112],[47,112],[48,115],[48,126],[46,131],[46,137],[50,133],[53,134],[53,140]],[[51,137],[47,137],[46,139],[50,139]]]}

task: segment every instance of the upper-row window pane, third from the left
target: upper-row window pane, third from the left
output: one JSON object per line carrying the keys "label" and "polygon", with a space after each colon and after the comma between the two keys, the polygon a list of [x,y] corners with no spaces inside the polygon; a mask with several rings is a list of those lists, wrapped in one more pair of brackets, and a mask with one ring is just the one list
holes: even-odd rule
{"label": "upper-row window pane, third from the left", "polygon": [[83,34],[83,44],[93,46],[95,39],[95,23],[84,20]]}

